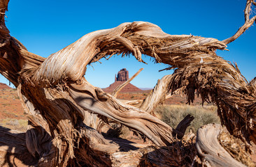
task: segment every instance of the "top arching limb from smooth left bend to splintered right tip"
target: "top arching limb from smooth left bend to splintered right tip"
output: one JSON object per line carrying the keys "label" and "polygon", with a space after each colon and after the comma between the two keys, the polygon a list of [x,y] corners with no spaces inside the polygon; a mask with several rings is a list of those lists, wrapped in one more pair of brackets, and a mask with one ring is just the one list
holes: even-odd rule
{"label": "top arching limb from smooth left bend to splintered right tip", "polygon": [[213,38],[169,35],[148,22],[124,23],[114,29],[94,31],[83,36],[50,55],[38,67],[23,70],[22,77],[28,84],[48,87],[65,81],[79,82],[88,64],[108,55],[132,53],[140,57],[138,52],[141,52],[158,62],[182,67],[188,62],[178,61],[180,58],[177,55],[190,56],[193,62],[196,54],[225,47],[223,42]]}

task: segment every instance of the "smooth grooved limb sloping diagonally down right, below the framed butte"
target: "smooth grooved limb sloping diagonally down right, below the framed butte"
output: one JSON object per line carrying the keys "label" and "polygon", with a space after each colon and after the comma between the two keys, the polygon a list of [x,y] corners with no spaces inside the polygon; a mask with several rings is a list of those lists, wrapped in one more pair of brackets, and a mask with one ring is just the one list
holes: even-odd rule
{"label": "smooth grooved limb sloping diagonally down right, below the framed butte", "polygon": [[[73,84],[69,87],[71,97],[83,109],[136,129],[148,136],[156,145],[169,145],[172,142],[173,129],[149,113],[134,106],[122,104],[115,97],[104,93],[100,88],[94,88],[85,79],[79,86]],[[87,94],[83,92],[87,92]],[[179,132],[174,130],[174,133]]]}

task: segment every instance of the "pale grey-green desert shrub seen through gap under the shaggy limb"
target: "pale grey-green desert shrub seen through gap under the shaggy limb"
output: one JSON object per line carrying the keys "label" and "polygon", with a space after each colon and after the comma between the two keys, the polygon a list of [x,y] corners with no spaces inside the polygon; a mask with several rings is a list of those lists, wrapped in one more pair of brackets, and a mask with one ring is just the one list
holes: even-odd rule
{"label": "pale grey-green desert shrub seen through gap under the shaggy limb", "polygon": [[176,128],[178,123],[188,114],[194,116],[187,132],[192,129],[192,132],[195,133],[202,125],[220,123],[215,106],[163,105],[158,106],[155,113],[157,117],[173,128]]}

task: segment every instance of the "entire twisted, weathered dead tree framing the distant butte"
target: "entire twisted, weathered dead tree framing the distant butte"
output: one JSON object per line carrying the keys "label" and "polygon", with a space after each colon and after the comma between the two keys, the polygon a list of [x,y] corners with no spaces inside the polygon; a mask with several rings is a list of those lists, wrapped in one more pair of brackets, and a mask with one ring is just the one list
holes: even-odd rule
{"label": "entire twisted, weathered dead tree framing the distant butte", "polygon": [[[218,106],[222,125],[230,134],[241,138],[245,148],[249,148],[250,141],[256,143],[255,80],[248,84],[236,65],[215,54],[216,49],[226,49],[229,42],[255,22],[255,17],[250,19],[249,15],[253,5],[255,1],[248,0],[245,25],[227,40],[169,35],[155,24],[132,22],[94,31],[42,58],[10,36],[4,21],[8,0],[1,0],[0,72],[17,87],[24,110],[29,114],[25,139],[21,134],[22,146],[8,145],[5,132],[1,144],[8,148],[3,151],[21,147],[38,166],[201,166],[206,161],[209,166],[215,166],[227,160],[244,164],[243,158],[236,162],[236,156],[229,155],[231,152],[223,154],[227,159],[204,153],[213,153],[205,142],[211,139],[216,148],[223,147],[219,145],[221,141],[215,140],[220,133],[212,125],[209,129],[199,129],[195,147],[192,138],[185,140],[190,142],[180,139],[185,138],[192,117],[185,117],[173,129],[152,115],[169,92],[187,95],[189,103],[197,94],[203,102]],[[159,80],[137,108],[92,86],[84,77],[87,65],[114,54],[132,54],[140,62],[145,54],[157,63],[170,65],[166,70],[176,70]],[[145,136],[152,144],[106,138],[100,133],[101,122],[108,124],[109,118]],[[208,132],[212,136],[206,135]],[[18,138],[11,140],[15,143]],[[222,152],[218,154],[222,156]]]}

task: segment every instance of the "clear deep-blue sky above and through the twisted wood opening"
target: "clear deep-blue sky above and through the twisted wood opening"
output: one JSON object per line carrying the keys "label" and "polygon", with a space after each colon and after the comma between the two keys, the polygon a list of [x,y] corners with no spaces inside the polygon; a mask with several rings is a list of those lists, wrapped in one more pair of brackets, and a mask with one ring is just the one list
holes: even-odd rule
{"label": "clear deep-blue sky above and through the twisted wood opening", "polygon": [[[10,0],[6,25],[10,34],[35,54],[47,57],[70,45],[86,33],[110,29],[123,22],[145,21],[157,24],[169,34],[192,34],[224,40],[243,25],[246,0],[215,1],[66,1]],[[228,45],[229,51],[218,55],[236,62],[250,81],[256,77],[256,26]],[[157,79],[172,71],[158,72],[166,65],[136,62],[134,57],[115,56],[103,64],[88,67],[85,77],[101,88],[114,81],[115,74],[126,67],[130,77],[141,67],[145,70],[131,82],[139,88],[152,88]],[[0,77],[0,82],[8,83]]]}

